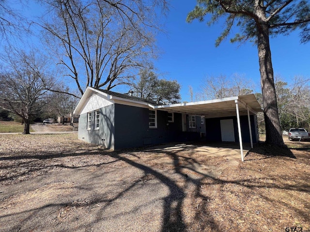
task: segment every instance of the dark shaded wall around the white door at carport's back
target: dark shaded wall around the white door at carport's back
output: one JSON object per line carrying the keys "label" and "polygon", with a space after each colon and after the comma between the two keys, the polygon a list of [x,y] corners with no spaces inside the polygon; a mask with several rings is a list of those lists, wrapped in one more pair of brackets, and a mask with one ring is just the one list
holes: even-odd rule
{"label": "dark shaded wall around the white door at carport's back", "polygon": [[[219,118],[206,118],[206,139],[207,141],[215,141],[220,142],[222,141],[221,137],[221,125],[220,120],[223,119],[233,119],[233,130],[234,130],[234,138],[235,142],[239,142],[239,135],[238,135],[238,124],[237,124],[237,117],[219,117]],[[250,122],[251,122],[251,130],[252,130],[252,140],[253,143],[257,143],[256,139],[256,127],[255,127],[255,118],[253,115],[250,115]],[[240,126],[242,131],[242,142],[249,143],[250,142],[250,133],[248,129],[248,116],[240,116]]]}

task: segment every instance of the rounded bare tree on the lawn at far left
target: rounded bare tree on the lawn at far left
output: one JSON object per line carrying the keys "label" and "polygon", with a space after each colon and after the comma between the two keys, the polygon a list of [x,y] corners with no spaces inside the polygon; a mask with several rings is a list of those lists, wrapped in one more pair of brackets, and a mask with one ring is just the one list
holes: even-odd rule
{"label": "rounded bare tree on the lawn at far left", "polygon": [[47,87],[55,81],[47,74],[47,63],[32,51],[8,57],[8,66],[0,73],[0,107],[20,116],[24,134],[30,133],[33,116],[47,104]]}

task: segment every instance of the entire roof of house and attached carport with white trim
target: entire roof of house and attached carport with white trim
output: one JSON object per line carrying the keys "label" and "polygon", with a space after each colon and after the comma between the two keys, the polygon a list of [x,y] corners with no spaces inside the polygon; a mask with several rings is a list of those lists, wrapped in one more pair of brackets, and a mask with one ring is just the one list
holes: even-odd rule
{"label": "entire roof of house and attached carport with white trim", "polygon": [[247,115],[248,110],[250,114],[256,114],[257,112],[262,112],[261,105],[257,101],[254,94],[209,100],[209,101],[201,101],[201,102],[187,102],[187,103],[163,105],[158,104],[151,100],[129,96],[127,94],[87,87],[81,100],[78,102],[78,105],[74,113],[80,114],[86,100],[97,93],[101,93],[101,95],[104,98],[108,99],[109,101],[114,101],[115,103],[121,102],[122,104],[128,104],[128,105],[135,104],[137,106],[147,107],[150,109],[158,109],[176,113],[185,113],[189,115],[205,116],[207,118],[235,116],[236,102],[238,103],[240,115]]}

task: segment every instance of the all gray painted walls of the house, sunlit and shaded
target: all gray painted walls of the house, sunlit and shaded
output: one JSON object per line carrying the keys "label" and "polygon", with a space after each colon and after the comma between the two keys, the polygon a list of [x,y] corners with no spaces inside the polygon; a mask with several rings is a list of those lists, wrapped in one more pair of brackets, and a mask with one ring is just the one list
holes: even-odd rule
{"label": "all gray painted walls of the house, sunlit and shaded", "polygon": [[[99,109],[99,130],[95,127],[95,111],[91,112],[92,124],[87,130],[87,113],[80,115],[78,138],[88,143],[102,145],[109,149],[141,147],[176,141],[191,141],[201,138],[206,141],[221,141],[220,120],[233,119],[235,142],[239,141],[236,117],[206,118],[196,116],[196,128],[182,131],[182,114],[173,113],[174,121],[168,122],[168,112],[157,110],[157,128],[149,128],[149,110],[136,106],[112,104]],[[248,116],[241,116],[243,142],[249,143]],[[253,143],[257,142],[254,116],[250,116]]]}

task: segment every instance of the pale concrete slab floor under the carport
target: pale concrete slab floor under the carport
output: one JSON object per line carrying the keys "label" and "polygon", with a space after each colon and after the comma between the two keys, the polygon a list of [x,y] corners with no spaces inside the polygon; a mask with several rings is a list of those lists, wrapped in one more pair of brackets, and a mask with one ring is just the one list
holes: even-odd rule
{"label": "pale concrete slab floor under the carport", "polygon": [[[247,154],[251,148],[250,144],[244,144],[243,153]],[[156,152],[195,152],[208,158],[224,158],[227,160],[240,160],[239,143],[234,142],[188,142],[169,143],[149,147],[147,151]]]}

